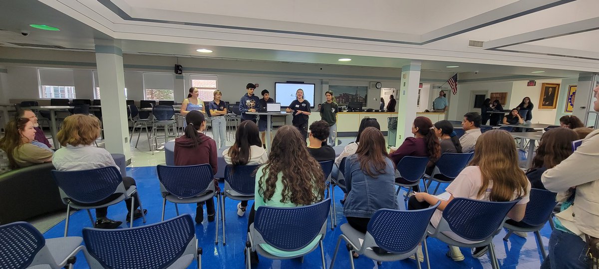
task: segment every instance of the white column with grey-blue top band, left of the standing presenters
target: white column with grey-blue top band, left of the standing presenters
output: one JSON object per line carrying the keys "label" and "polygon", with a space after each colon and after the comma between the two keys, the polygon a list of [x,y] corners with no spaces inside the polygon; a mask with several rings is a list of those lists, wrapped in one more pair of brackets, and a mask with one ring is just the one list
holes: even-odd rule
{"label": "white column with grey-blue top band, left of the standing presenters", "polygon": [[105,148],[131,161],[125,100],[125,72],[120,41],[96,39],[96,65],[102,92]]}

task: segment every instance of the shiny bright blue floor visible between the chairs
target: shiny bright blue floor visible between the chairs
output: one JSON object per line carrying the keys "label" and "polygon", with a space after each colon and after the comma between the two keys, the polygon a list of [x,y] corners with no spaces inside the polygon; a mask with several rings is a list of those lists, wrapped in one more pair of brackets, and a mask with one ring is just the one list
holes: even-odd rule
{"label": "shiny bright blue floor visible between the chairs", "polygon": [[[160,195],[160,185],[158,176],[156,175],[156,167],[136,167],[128,168],[129,176],[135,178],[137,187],[140,191],[141,201],[144,208],[148,209],[147,224],[152,224],[160,221],[162,212],[162,197]],[[435,184],[435,183],[434,183]],[[433,184],[433,186],[434,186]],[[447,185],[441,185],[440,193]],[[221,186],[222,188],[222,186]],[[422,187],[421,187],[422,188]],[[401,197],[401,196],[400,196]],[[341,225],[346,222],[343,217],[343,206],[339,203],[339,198],[343,198],[343,192],[340,189],[335,189],[335,198],[337,201],[337,223]],[[403,203],[403,198],[400,202]],[[214,244],[214,234],[216,227],[215,222],[208,222],[204,218],[202,224],[196,225],[196,236],[199,240],[199,246],[204,249],[202,255],[202,265],[204,268],[244,268],[244,247],[246,242],[247,231],[247,212],[245,216],[237,216],[237,201],[227,200],[225,202],[226,209],[226,245],[222,245],[222,235],[219,239],[219,244]],[[250,201],[250,205],[252,201]],[[401,204],[401,203],[400,203]],[[180,204],[180,213],[189,213],[192,217],[195,216],[195,204]],[[93,213],[93,212],[92,212]],[[108,218],[123,221],[122,228],[126,228],[125,215],[127,210],[125,203],[116,204],[108,208]],[[172,203],[167,202],[165,219],[176,216],[175,209]],[[134,227],[143,225],[141,219],[134,221]],[[91,227],[89,217],[84,210],[75,212],[70,219],[69,236],[81,236],[81,229]],[[46,238],[62,237],[65,228],[65,222],[62,221],[55,227],[44,234]],[[335,244],[341,231],[337,227],[334,231],[328,230],[324,239],[325,261],[327,268],[331,262]],[[547,224],[541,230],[543,244],[547,249],[551,229]],[[539,268],[541,255],[537,249],[537,242],[532,233],[528,234],[526,239],[512,235],[509,242],[504,242],[502,238],[506,232],[501,232],[495,237],[495,249],[497,258],[501,268]],[[491,268],[489,256],[485,255],[480,259],[472,258],[470,249],[462,248],[465,260],[454,262],[447,258],[447,244],[444,244],[437,239],[428,239],[428,251],[430,255],[431,268]],[[383,262],[382,265],[377,265],[376,261],[361,257],[355,259],[356,268],[416,268],[416,262],[410,259],[398,262]],[[195,262],[189,268],[195,268]],[[270,259],[262,258],[259,264],[254,268],[320,268],[320,251],[316,250],[313,253],[305,256],[304,262],[299,259],[271,261]],[[83,254],[78,255],[75,268],[88,268]],[[340,247],[340,253],[335,261],[335,268],[350,268],[349,257],[343,246]],[[425,265],[423,264],[423,268]]]}

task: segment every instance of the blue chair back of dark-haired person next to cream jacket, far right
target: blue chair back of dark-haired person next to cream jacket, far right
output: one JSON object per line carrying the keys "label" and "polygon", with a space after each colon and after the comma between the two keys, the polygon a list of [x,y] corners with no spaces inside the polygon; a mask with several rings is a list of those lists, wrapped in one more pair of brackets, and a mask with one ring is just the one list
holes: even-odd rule
{"label": "blue chair back of dark-haired person next to cream jacket, far right", "polygon": [[526,205],[522,222],[531,226],[544,225],[558,204],[555,196],[555,192],[546,189],[530,189],[530,201]]}

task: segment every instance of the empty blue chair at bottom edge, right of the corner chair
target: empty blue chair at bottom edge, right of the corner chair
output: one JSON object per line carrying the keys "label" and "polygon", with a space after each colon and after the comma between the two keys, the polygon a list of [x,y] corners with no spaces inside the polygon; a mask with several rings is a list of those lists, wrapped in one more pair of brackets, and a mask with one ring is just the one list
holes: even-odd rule
{"label": "empty blue chair at bottom edge, right of the corner chair", "polygon": [[195,227],[189,214],[135,228],[83,229],[90,268],[202,267]]}

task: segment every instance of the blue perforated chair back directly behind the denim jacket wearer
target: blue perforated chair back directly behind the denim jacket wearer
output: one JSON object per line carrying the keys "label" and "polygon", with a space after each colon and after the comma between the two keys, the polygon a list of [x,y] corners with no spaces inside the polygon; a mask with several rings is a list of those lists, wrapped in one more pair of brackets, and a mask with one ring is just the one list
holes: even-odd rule
{"label": "blue perforated chair back directly behind the denim jacket wearer", "polygon": [[368,222],[367,231],[374,242],[388,252],[410,252],[422,242],[432,213],[440,203],[419,210],[379,209]]}

